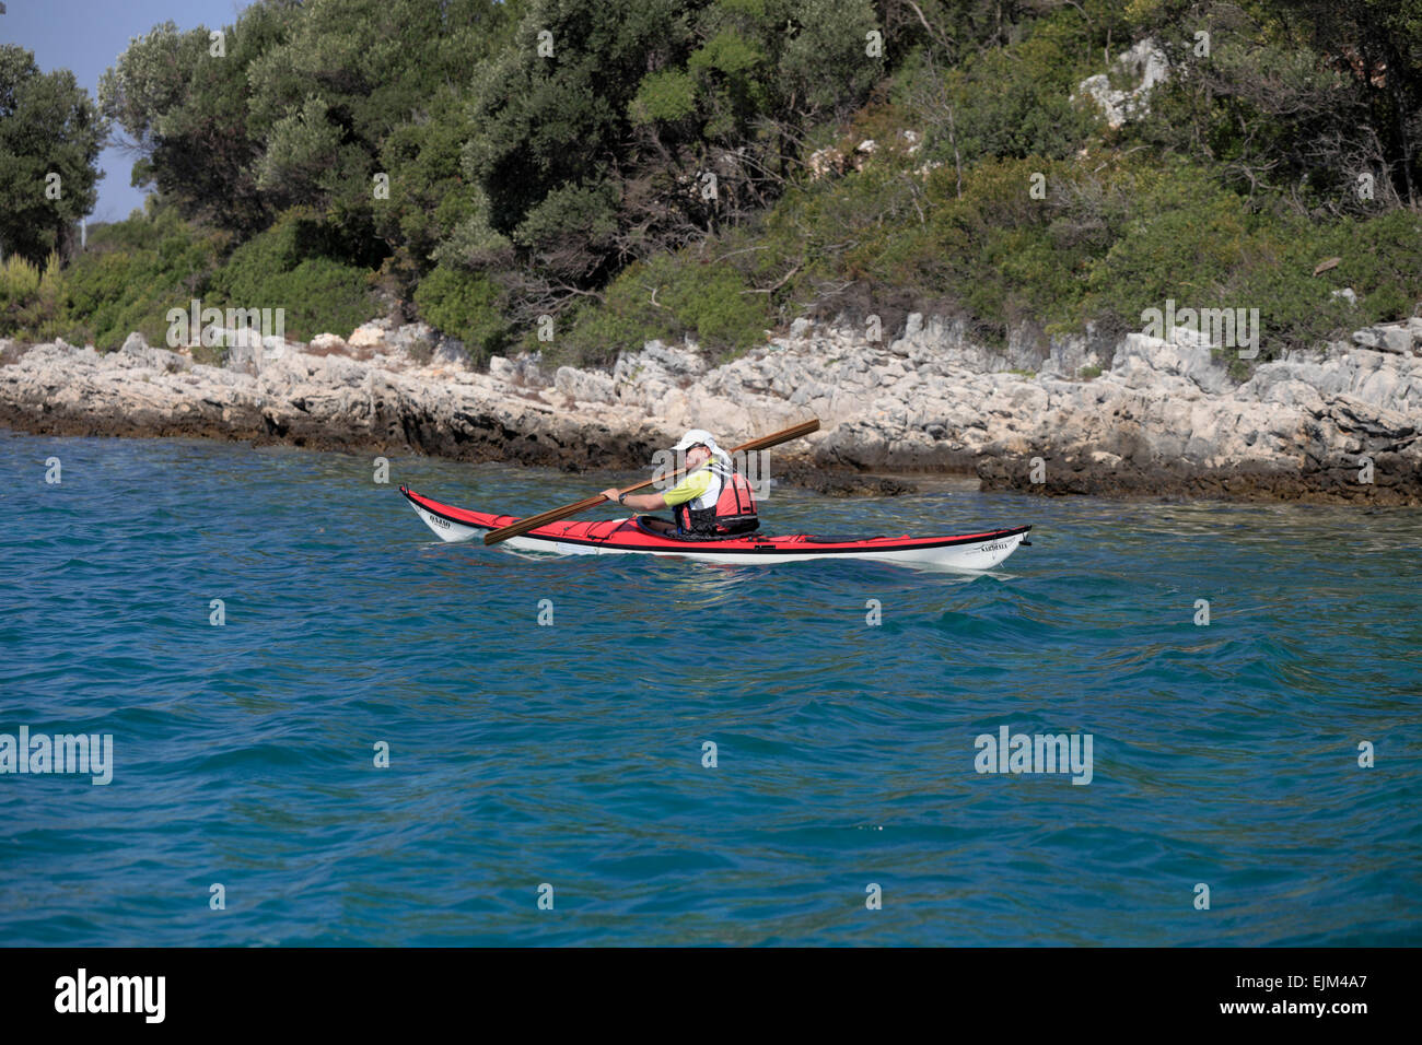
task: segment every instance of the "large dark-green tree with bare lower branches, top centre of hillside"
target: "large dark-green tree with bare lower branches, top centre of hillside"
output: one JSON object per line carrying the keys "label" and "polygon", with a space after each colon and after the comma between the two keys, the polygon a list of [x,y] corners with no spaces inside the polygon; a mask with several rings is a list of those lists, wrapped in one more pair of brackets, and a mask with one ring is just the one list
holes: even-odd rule
{"label": "large dark-green tree with bare lower branches, top centre of hillside", "polygon": [[557,310],[748,220],[805,125],[883,75],[877,24],[869,0],[535,0],[474,84],[462,171],[486,206],[458,240],[503,237],[528,262],[513,297]]}

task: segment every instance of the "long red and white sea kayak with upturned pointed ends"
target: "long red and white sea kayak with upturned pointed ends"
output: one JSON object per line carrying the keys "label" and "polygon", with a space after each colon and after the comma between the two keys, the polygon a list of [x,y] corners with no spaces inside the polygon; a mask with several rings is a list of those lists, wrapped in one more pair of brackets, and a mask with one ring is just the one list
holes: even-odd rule
{"label": "long red and white sea kayak with upturned pointed ends", "polygon": [[[459,542],[482,537],[519,520],[513,515],[471,512],[400,488],[415,515],[425,520],[441,540]],[[681,556],[714,563],[791,563],[808,559],[867,559],[904,566],[941,566],[957,570],[990,570],[1028,545],[1031,526],[966,533],[951,537],[839,537],[796,533],[768,537],[751,533],[737,537],[697,540],[656,533],[631,519],[596,522],[556,522],[539,526],[506,542],[519,552],[555,554],[660,554]]]}

